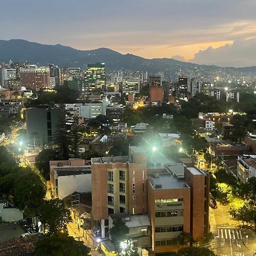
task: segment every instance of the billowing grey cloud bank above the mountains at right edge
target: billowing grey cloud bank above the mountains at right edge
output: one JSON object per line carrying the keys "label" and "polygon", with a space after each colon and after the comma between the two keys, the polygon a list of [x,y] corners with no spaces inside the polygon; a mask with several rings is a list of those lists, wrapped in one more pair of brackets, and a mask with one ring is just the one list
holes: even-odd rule
{"label": "billowing grey cloud bank above the mountains at right edge", "polygon": [[222,67],[246,67],[256,65],[256,37],[234,41],[218,48],[200,50],[189,61],[197,64],[213,64]]}

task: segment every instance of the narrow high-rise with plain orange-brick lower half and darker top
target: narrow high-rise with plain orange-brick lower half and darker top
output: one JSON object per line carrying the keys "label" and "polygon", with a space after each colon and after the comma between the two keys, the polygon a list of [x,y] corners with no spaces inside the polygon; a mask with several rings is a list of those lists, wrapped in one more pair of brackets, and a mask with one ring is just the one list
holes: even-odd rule
{"label": "narrow high-rise with plain orange-brick lower half and darker top", "polygon": [[163,102],[163,79],[162,76],[150,76],[150,101],[152,104]]}

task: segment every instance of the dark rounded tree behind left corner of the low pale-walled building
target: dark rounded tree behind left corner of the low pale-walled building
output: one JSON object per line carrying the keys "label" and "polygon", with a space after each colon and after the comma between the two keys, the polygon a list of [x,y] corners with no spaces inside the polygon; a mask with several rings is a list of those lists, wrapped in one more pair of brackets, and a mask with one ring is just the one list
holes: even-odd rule
{"label": "dark rounded tree behind left corner of the low pale-walled building", "polygon": [[57,151],[52,148],[42,150],[35,158],[35,165],[44,179],[49,180],[49,161],[57,160]]}

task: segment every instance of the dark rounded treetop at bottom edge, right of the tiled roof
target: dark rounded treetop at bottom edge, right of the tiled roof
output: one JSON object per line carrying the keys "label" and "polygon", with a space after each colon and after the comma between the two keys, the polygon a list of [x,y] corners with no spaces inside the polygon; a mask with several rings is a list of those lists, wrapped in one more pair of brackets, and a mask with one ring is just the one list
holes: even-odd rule
{"label": "dark rounded treetop at bottom edge, right of the tiled roof", "polygon": [[75,238],[67,234],[56,234],[54,236],[44,235],[36,243],[36,256],[87,256],[89,247],[76,241]]}

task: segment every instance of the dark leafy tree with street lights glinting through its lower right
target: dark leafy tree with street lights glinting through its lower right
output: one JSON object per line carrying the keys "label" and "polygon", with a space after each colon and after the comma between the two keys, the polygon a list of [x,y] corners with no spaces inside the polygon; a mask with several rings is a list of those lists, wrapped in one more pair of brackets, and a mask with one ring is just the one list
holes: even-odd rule
{"label": "dark leafy tree with street lights glinting through its lower right", "polygon": [[72,221],[70,210],[65,208],[63,200],[44,200],[39,208],[39,215],[42,224],[48,230],[47,234],[66,233],[67,224]]}

